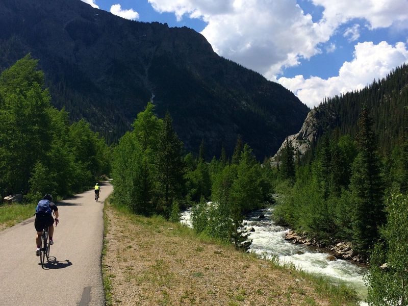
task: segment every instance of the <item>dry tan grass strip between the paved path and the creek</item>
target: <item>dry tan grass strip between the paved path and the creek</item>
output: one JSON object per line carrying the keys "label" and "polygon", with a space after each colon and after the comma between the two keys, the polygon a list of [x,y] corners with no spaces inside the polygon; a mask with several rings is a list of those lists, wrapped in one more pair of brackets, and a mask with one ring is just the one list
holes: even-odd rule
{"label": "dry tan grass strip between the paved path and the creek", "polygon": [[161,217],[105,207],[108,305],[356,305],[345,287],[200,238]]}

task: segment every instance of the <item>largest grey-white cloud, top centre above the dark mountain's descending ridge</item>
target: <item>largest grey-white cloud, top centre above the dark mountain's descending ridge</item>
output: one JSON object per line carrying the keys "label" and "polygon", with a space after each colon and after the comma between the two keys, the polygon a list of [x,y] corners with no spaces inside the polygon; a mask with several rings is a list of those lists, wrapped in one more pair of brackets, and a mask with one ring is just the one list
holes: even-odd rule
{"label": "largest grey-white cloud, top centre above the dark mountain's descending ridge", "polygon": [[333,29],[312,21],[296,0],[149,0],[159,12],[199,17],[201,32],[221,56],[264,74],[269,79],[300,58],[321,53],[320,42]]}

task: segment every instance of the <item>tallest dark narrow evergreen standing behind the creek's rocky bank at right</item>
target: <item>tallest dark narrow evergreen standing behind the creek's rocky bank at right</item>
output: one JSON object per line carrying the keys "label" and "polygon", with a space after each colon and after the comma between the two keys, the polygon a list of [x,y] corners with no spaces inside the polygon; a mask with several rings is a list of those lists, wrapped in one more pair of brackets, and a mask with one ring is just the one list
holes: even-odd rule
{"label": "tallest dark narrow evergreen standing behind the creek's rocky bank at right", "polygon": [[360,115],[357,135],[358,155],[354,160],[350,190],[354,198],[351,213],[353,244],[367,254],[378,238],[378,228],[384,224],[384,185],[380,173],[380,159],[372,131],[373,120],[367,109]]}

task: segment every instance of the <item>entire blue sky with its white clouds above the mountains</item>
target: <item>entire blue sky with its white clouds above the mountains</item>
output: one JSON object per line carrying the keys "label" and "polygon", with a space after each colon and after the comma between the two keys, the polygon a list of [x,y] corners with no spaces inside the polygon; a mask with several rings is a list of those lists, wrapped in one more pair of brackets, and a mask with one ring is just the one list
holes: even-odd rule
{"label": "entire blue sky with its white clouds above the mountains", "polygon": [[408,63],[408,0],[82,0],[201,33],[309,107]]}

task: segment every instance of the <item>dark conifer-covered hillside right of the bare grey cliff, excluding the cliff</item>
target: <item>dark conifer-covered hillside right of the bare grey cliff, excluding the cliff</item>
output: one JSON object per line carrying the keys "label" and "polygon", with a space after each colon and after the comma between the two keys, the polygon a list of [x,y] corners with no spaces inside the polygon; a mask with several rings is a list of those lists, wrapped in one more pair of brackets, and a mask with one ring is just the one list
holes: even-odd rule
{"label": "dark conifer-covered hillside right of the bare grey cliff, excluding the cliff", "polygon": [[351,135],[358,132],[359,114],[367,108],[374,121],[379,150],[390,152],[408,133],[408,64],[393,69],[386,78],[364,89],[330,97],[318,107],[326,114],[327,131]]}

